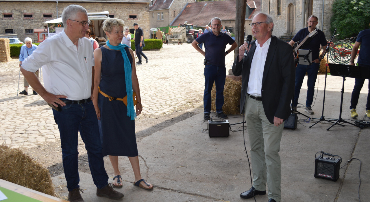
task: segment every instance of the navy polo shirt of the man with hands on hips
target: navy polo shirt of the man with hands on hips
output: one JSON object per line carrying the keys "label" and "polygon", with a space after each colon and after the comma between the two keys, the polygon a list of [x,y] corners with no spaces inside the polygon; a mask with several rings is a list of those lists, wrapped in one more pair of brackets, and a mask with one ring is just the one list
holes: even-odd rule
{"label": "navy polo shirt of the man with hands on hips", "polygon": [[225,66],[226,44],[231,45],[235,42],[225,33],[220,32],[216,37],[212,31],[202,34],[195,41],[199,44],[204,43],[208,63],[216,66]]}

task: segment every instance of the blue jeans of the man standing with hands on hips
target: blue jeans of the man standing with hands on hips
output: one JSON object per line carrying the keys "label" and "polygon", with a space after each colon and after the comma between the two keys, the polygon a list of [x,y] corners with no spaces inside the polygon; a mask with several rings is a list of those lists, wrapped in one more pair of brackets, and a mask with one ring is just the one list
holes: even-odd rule
{"label": "blue jeans of the man standing with hands on hips", "polygon": [[203,96],[204,113],[211,113],[211,91],[214,82],[216,85],[216,113],[219,114],[222,112],[224,102],[223,87],[225,86],[226,68],[224,66],[205,65],[203,75],[205,78]]}

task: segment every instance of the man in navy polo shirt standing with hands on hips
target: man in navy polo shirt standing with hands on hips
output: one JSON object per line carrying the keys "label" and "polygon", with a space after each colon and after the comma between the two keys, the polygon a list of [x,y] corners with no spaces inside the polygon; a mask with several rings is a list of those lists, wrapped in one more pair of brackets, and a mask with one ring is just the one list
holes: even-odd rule
{"label": "man in navy polo shirt standing with hands on hips", "polygon": [[[222,111],[224,102],[223,87],[225,86],[226,79],[225,56],[238,47],[238,44],[236,44],[229,35],[221,33],[221,27],[221,19],[218,17],[212,18],[212,31],[202,34],[191,43],[191,45],[206,59],[203,73],[205,77],[203,96],[204,120],[210,119],[209,114],[211,114],[211,90],[213,82],[215,82],[216,85],[216,116],[223,119],[228,117]],[[204,43],[205,51],[199,48],[198,44],[201,43]],[[227,51],[225,51],[226,44],[231,45]]]}

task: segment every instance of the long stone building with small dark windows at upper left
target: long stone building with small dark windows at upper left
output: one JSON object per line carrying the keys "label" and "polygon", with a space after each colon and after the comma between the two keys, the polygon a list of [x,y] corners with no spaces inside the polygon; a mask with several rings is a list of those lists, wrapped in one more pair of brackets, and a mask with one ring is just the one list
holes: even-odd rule
{"label": "long stone building with small dark windows at upper left", "polygon": [[150,0],[0,0],[0,34],[17,34],[21,41],[30,37],[36,42],[34,29],[46,28],[45,21],[61,17],[71,4],[83,6],[89,13],[108,10],[109,17],[124,20],[129,29],[138,23],[144,38],[149,38]]}

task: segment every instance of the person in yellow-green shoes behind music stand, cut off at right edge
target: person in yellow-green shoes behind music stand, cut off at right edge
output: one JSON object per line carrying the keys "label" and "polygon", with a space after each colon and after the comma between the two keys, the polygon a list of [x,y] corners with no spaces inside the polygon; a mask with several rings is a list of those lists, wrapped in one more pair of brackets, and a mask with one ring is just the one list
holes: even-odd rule
{"label": "person in yellow-green shoes behind music stand, cut off at right edge", "polygon": [[[370,25],[370,24],[369,24]],[[354,58],[357,56],[357,50],[361,45],[361,49],[359,52],[359,59],[357,60],[358,66],[365,66],[370,68],[370,29],[360,31],[359,35],[357,36],[357,40],[353,46],[351,52],[351,60],[350,65],[354,64]],[[351,96],[351,106],[349,107],[351,110],[351,117],[355,118],[359,116],[356,112],[357,102],[359,101],[360,90],[364,85],[365,79],[354,79],[354,87]],[[369,91],[370,91],[370,82],[369,82]],[[367,102],[366,102],[366,116],[370,118],[370,94],[367,93]]]}

